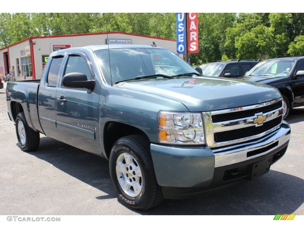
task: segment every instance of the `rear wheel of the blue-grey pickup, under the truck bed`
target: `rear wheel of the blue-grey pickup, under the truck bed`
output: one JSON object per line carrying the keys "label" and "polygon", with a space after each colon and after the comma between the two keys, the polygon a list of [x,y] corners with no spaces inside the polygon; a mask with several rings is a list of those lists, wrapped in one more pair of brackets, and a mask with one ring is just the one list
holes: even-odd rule
{"label": "rear wheel of the blue-grey pickup, under the truck bed", "polygon": [[24,151],[36,150],[40,143],[40,134],[29,127],[24,112],[16,117],[16,134],[19,146]]}

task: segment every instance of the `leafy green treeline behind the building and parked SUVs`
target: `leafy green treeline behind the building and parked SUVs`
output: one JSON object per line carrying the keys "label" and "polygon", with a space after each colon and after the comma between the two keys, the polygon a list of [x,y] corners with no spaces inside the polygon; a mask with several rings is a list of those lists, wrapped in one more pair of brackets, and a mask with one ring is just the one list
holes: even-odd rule
{"label": "leafy green treeline behind the building and parked SUVs", "polygon": [[[199,13],[192,64],[299,54],[304,13]],[[0,13],[0,47],[31,36],[125,32],[176,39],[175,13]]]}

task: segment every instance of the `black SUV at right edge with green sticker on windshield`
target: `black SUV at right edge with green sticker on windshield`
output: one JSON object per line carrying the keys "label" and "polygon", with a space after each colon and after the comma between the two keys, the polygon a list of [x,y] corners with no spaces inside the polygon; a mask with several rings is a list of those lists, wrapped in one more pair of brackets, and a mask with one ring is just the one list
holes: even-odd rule
{"label": "black SUV at right edge with green sticker on windshield", "polygon": [[261,61],[241,79],[277,88],[283,97],[284,119],[290,109],[304,105],[304,56]]}

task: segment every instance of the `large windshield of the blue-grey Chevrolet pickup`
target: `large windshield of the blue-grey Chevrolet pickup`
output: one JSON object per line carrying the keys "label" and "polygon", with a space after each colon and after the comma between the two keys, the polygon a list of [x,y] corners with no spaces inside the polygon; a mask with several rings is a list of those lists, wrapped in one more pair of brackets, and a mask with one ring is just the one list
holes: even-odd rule
{"label": "large windshield of the blue-grey Chevrolet pickup", "polygon": [[136,77],[142,80],[155,78],[167,80],[171,77],[164,76],[198,74],[176,54],[161,48],[113,48],[97,50],[95,54],[105,81],[109,85]]}

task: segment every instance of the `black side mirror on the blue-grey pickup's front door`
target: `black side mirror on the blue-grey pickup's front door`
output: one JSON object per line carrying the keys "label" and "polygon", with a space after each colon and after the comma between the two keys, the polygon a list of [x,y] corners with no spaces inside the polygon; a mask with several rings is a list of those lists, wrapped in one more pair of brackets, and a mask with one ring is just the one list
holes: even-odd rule
{"label": "black side mirror on the blue-grey pickup's front door", "polygon": [[73,72],[63,76],[62,85],[68,88],[86,88],[88,93],[91,93],[95,86],[95,80],[88,81],[85,74]]}

